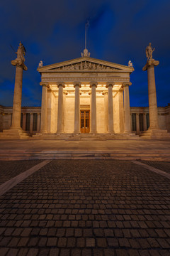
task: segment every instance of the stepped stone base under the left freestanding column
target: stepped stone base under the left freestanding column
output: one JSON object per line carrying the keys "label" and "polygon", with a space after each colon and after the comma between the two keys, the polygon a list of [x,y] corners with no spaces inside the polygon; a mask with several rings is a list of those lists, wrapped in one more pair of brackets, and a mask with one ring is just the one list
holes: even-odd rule
{"label": "stepped stone base under the left freestanding column", "polygon": [[0,139],[28,139],[30,135],[21,128],[4,129],[0,133]]}

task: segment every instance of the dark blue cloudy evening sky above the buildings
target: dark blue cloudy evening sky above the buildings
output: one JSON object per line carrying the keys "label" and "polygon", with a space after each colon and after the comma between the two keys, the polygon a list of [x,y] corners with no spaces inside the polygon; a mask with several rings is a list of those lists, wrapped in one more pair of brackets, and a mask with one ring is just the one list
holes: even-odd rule
{"label": "dark blue cloudy evening sky above the buildings", "polygon": [[145,48],[152,43],[158,106],[170,95],[169,0],[8,0],[0,3],[0,105],[12,106],[19,41],[26,47],[23,106],[41,105],[40,60],[44,65],[79,58],[84,49],[84,26],[89,19],[87,48],[92,58],[128,65],[132,60],[130,106],[147,106]]}

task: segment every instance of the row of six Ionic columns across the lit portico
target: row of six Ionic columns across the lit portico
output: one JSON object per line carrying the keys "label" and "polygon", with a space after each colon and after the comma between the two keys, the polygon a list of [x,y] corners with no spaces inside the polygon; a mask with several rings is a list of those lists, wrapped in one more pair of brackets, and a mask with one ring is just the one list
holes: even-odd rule
{"label": "row of six Ionic columns across the lit portico", "polygon": [[[47,132],[47,82],[40,82],[42,85],[42,105],[41,105],[41,133]],[[106,88],[108,89],[103,93],[105,104],[107,104],[107,132],[109,134],[114,133],[113,129],[113,86],[115,82],[107,82]],[[123,82],[124,88],[124,121],[125,121],[125,132],[131,132],[130,128],[130,100],[129,100],[129,86],[131,82]],[[96,125],[96,88],[98,82],[90,82],[91,88],[91,126],[90,133],[97,133]],[[65,87],[64,82],[57,82],[58,87],[58,111],[57,111],[57,134],[64,132],[64,120],[63,120],[63,89]],[[74,98],[74,134],[80,133],[80,92],[81,82],[74,82],[75,98]]]}

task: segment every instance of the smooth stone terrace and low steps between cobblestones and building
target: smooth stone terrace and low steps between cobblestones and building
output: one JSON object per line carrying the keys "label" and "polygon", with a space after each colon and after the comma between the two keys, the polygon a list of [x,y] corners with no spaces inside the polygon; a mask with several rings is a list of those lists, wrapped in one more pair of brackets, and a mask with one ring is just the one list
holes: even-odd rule
{"label": "smooth stone terrace and low steps between cobblestones and building", "polygon": [[[169,161],[170,140],[96,137],[0,140],[0,160],[121,159]],[[79,139],[79,140],[76,140]]]}

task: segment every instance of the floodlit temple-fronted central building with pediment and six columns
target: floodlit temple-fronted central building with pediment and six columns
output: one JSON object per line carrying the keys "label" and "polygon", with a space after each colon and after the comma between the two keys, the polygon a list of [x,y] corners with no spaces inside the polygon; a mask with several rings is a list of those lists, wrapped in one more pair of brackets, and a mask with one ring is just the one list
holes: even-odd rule
{"label": "floodlit temple-fronted central building with pediment and six columns", "polygon": [[41,133],[123,133],[130,128],[129,66],[89,57],[38,68]]}

